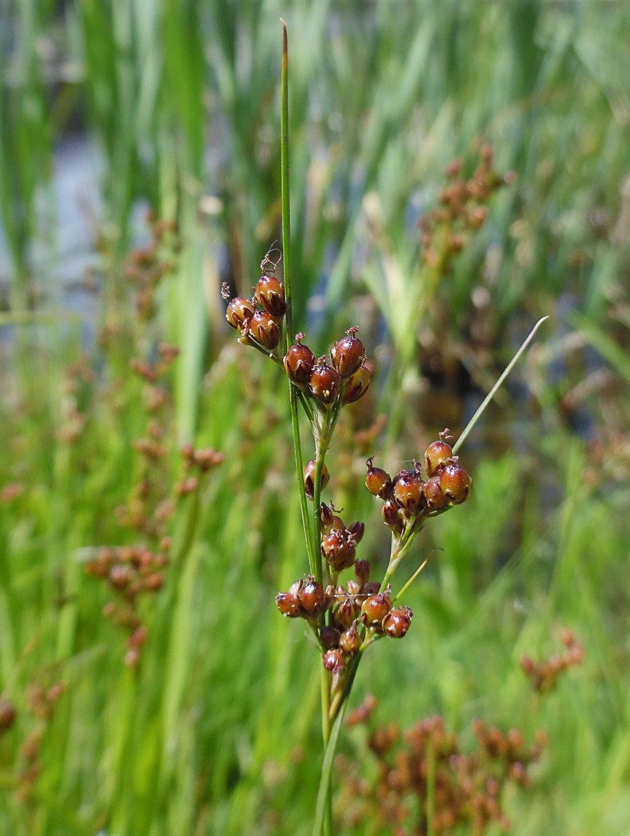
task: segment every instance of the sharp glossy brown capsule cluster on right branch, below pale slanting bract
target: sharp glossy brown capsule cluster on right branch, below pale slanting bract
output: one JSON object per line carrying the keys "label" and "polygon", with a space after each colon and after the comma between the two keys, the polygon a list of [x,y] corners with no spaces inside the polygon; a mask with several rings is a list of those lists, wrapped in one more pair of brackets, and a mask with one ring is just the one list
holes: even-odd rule
{"label": "sharp glossy brown capsule cluster on right branch, below pale slanting bract", "polygon": [[468,499],[472,480],[458,456],[453,456],[447,438],[448,430],[444,430],[438,441],[427,447],[423,464],[414,461],[412,470],[401,470],[393,479],[374,466],[373,457],[366,461],[366,488],[383,500],[383,522],[398,536],[412,526],[422,527],[426,517],[435,517]]}

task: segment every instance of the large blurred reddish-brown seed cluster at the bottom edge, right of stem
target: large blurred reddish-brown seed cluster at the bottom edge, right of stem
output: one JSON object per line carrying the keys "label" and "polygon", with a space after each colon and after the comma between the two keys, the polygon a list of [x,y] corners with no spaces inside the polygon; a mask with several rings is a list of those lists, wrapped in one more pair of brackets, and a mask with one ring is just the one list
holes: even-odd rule
{"label": "large blurred reddish-brown seed cluster at the bottom edge, right of stem", "polygon": [[[353,711],[349,725],[370,720],[376,700],[366,698]],[[465,750],[458,736],[445,727],[439,715],[427,717],[406,732],[396,723],[371,731],[367,746],[378,764],[371,785],[348,764],[345,792],[355,825],[365,818],[388,833],[427,833],[431,799],[434,833],[485,833],[498,823],[509,828],[503,796],[511,784],[529,788],[529,767],[540,758],[545,734],[537,732],[528,746],[522,732],[511,728],[473,723],[476,745]],[[350,773],[348,775],[348,772]],[[420,811],[414,829],[408,829],[411,811]],[[380,830],[379,830],[380,832]],[[494,833],[494,830],[492,831]]]}

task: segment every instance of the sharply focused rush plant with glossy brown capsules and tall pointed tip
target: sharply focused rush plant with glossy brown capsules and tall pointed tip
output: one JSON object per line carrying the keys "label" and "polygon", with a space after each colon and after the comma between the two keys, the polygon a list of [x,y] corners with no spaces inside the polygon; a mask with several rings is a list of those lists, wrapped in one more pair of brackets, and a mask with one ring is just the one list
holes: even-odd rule
{"label": "sharply focused rush plant with glossy brown capsules and tall pointed tip", "polygon": [[[427,561],[412,571],[405,583],[394,588],[394,574],[426,523],[469,497],[472,479],[457,455],[458,446],[477,420],[490,392],[458,443],[451,446],[448,429],[428,445],[410,469],[393,477],[366,461],[366,488],[382,502],[382,521],[392,534],[387,568],[375,579],[369,560],[358,547],[365,530],[359,520],[347,522],[333,501],[324,501],[330,480],[326,463],[335,427],[346,405],[360,400],[371,384],[371,363],[353,325],[325,354],[319,356],[305,344],[305,334],[295,334],[292,317],[292,283],[289,212],[288,49],[283,22],[282,61],[282,252],[271,249],[261,264],[261,276],[252,298],[230,298],[226,319],[238,331],[238,342],[266,355],[284,370],[289,380],[289,403],[295,446],[296,488],[300,495],[302,523],[308,553],[308,571],[276,597],[279,612],[289,619],[303,619],[315,637],[320,654],[322,733],[325,753],[314,836],[332,833],[331,773],[336,743],[356,673],[366,650],[379,640],[402,639],[412,623],[412,610],[402,596]],[[282,278],[279,264],[284,262]],[[539,323],[540,324],[540,323]],[[537,328],[538,326],[536,326]],[[295,339],[293,338],[295,334]],[[520,356],[530,338],[505,371]],[[504,379],[503,375],[498,385]],[[313,438],[312,457],[305,461],[300,436],[300,409]]]}

